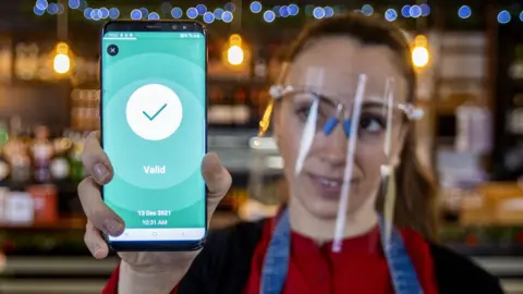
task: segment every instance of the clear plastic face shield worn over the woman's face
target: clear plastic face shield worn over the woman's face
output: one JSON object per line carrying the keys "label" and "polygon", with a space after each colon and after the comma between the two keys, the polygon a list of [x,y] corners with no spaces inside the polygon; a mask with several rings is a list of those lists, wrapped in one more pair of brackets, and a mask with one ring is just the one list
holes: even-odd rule
{"label": "clear plastic face shield worn over the woman's face", "polygon": [[[259,134],[251,140],[251,194],[265,204],[296,201],[319,219],[332,220],[335,252],[342,250],[349,219],[356,215],[378,215],[381,242],[390,242],[394,170],[409,121],[423,115],[409,103],[402,83],[391,76],[283,66],[270,88],[272,102]],[[384,198],[378,213],[377,197]]]}

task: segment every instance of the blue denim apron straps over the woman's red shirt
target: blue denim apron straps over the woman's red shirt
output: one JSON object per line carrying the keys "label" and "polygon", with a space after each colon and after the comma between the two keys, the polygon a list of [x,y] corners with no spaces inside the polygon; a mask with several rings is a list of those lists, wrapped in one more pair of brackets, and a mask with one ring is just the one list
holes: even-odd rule
{"label": "blue denim apron straps over the woman's red shirt", "polygon": [[[381,240],[385,240],[384,219],[379,220]],[[275,228],[267,248],[262,271],[260,294],[281,294],[287,280],[291,248],[291,223],[285,209]],[[394,228],[389,246],[384,246],[390,277],[396,294],[423,294],[416,271],[403,244],[403,238]]]}

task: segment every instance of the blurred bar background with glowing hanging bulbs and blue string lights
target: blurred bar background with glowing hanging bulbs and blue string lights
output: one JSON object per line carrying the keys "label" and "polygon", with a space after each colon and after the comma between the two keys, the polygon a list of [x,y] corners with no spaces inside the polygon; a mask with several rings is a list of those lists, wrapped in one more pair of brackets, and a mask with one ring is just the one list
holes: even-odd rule
{"label": "blurred bar background with glowing hanging bulbs and blue string lights", "polygon": [[[281,159],[272,142],[253,137],[296,32],[346,11],[401,26],[427,113],[418,155],[438,171],[441,242],[499,275],[508,293],[523,293],[519,0],[1,1],[0,293],[99,293],[117,262],[89,257],[76,185],[84,138],[99,127],[100,28],[134,9],[142,19],[195,17],[209,29],[209,149],[234,181],[212,228],[275,212],[256,196],[281,189]],[[262,191],[247,188],[255,148],[273,170]]]}

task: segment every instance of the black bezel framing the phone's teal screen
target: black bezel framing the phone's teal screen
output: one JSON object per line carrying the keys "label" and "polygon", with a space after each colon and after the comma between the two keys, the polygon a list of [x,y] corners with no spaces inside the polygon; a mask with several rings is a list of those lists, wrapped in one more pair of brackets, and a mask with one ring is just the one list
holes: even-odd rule
{"label": "black bezel framing the phone's teal screen", "polygon": [[[177,28],[173,25],[178,25]],[[186,28],[183,28],[186,26]],[[205,97],[207,99],[207,64],[208,64],[208,47],[207,47],[207,29],[204,24],[197,21],[110,21],[106,23],[101,29],[100,36],[100,144],[104,148],[104,115],[102,115],[102,101],[104,101],[104,42],[101,38],[110,32],[187,32],[187,33],[202,33],[204,35],[205,42]],[[207,103],[205,103],[205,152],[207,154]],[[207,187],[204,185],[204,198],[207,197]],[[101,186],[101,197],[104,199],[104,186]],[[205,236],[202,240],[196,241],[111,241],[108,236],[105,236],[110,249],[114,252],[191,252],[203,248],[206,235],[208,233],[208,215],[207,215],[207,201],[205,201]]]}

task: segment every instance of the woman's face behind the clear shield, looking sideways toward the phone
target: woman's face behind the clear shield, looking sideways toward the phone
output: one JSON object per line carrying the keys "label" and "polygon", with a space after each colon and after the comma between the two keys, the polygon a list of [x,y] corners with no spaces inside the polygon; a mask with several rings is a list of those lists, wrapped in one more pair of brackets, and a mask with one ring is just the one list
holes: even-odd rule
{"label": "woman's face behind the clear shield, looking sideways toward the phone", "polygon": [[[349,37],[325,37],[308,44],[289,69],[287,83],[315,90],[288,95],[277,103],[275,135],[291,195],[295,197],[293,200],[300,201],[309,213],[323,219],[336,218],[351,139],[356,142],[356,148],[350,175],[349,213],[366,204],[374,207],[381,179],[380,169],[391,159],[398,159],[406,128],[401,113],[398,114],[394,109],[392,121],[388,124],[392,143],[390,156],[386,156],[387,111],[384,111],[384,105],[387,101],[387,78],[394,79],[393,105],[406,102],[408,96],[405,78],[394,59],[398,59],[397,56],[385,46],[364,46]],[[356,138],[348,139],[341,126],[325,135],[321,126],[331,117],[329,114],[336,112],[338,105],[344,106],[345,117],[353,117],[357,76],[362,73],[368,79]],[[318,96],[312,93],[321,93],[317,126],[303,168],[296,173],[311,105],[318,100]],[[382,106],[367,101],[382,101]]]}

